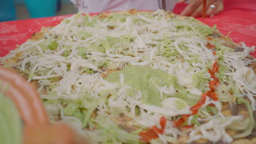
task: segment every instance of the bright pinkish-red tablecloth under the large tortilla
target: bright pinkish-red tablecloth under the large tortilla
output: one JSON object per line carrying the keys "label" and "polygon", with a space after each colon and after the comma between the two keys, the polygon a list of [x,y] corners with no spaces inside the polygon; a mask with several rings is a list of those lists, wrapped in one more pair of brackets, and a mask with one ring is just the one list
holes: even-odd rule
{"label": "bright pinkish-red tablecloth under the large tortilla", "polygon": [[[212,18],[197,18],[209,26],[217,25],[224,35],[229,34],[236,43],[245,41],[246,45],[256,45],[256,1],[225,0],[225,9]],[[174,13],[179,14],[186,4],[177,4]],[[16,45],[24,43],[42,27],[56,26],[65,17],[71,15],[45,17],[19,21],[0,22],[0,57],[5,56]],[[252,53],[256,58],[256,51]]]}

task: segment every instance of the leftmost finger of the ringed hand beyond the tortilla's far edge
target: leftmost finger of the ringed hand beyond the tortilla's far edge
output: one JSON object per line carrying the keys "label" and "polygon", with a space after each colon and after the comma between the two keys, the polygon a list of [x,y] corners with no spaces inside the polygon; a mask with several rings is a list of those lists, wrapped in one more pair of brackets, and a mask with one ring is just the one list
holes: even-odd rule
{"label": "leftmost finger of the ringed hand beyond the tortilla's far edge", "polygon": [[182,16],[190,16],[202,4],[202,0],[191,0],[187,7],[182,11]]}

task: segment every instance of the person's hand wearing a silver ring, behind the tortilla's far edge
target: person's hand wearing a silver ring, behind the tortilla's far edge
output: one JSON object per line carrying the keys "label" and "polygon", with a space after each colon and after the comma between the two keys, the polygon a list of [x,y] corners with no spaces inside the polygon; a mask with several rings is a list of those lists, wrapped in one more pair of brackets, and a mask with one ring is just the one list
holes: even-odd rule
{"label": "person's hand wearing a silver ring, behind the tortilla's far edge", "polygon": [[[184,3],[188,0],[178,0],[178,3]],[[214,8],[210,8],[210,5],[213,4]],[[190,0],[190,3],[182,11],[182,16],[193,16],[199,17],[202,16],[203,0]],[[210,17],[211,15],[219,14],[220,11],[223,11],[224,5],[222,0],[207,0],[206,1],[206,16]]]}

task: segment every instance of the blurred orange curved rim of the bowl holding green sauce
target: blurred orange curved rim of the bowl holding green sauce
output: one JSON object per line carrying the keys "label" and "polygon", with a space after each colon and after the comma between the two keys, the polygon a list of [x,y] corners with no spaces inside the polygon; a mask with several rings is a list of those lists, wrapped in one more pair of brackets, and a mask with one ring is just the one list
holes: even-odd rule
{"label": "blurred orange curved rim of the bowl holding green sauce", "polygon": [[0,81],[8,86],[5,94],[14,101],[26,126],[48,123],[48,115],[37,88],[19,74],[4,67],[0,67]]}

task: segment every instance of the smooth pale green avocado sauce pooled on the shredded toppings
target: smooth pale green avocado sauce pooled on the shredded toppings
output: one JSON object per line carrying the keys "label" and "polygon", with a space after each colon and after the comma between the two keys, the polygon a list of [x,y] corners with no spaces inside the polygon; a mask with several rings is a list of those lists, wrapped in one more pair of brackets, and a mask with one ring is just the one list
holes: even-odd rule
{"label": "smooth pale green avocado sauce pooled on the shredded toppings", "polygon": [[[120,74],[124,75],[124,85],[131,86],[142,93],[142,103],[162,106],[159,87],[170,87],[176,83],[176,77],[163,70],[146,66],[131,66],[110,74],[105,80],[113,83],[120,81]],[[132,95],[131,95],[132,96]]]}

